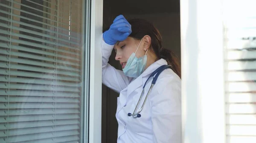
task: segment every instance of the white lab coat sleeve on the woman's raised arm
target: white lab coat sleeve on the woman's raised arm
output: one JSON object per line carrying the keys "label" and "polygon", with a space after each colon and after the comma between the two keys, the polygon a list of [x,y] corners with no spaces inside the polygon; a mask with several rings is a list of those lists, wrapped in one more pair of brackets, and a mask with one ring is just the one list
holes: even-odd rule
{"label": "white lab coat sleeve on the woman's raised arm", "polygon": [[131,78],[124,75],[123,71],[116,70],[108,59],[111,56],[114,45],[108,45],[102,39],[102,83],[120,93],[131,82]]}

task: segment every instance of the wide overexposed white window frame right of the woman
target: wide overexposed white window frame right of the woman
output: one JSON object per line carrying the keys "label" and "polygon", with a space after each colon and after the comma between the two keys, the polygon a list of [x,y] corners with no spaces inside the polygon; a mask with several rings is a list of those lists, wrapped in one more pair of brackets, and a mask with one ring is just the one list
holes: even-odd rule
{"label": "wide overexposed white window frame right of the woman", "polygon": [[180,0],[183,143],[225,143],[223,0]]}

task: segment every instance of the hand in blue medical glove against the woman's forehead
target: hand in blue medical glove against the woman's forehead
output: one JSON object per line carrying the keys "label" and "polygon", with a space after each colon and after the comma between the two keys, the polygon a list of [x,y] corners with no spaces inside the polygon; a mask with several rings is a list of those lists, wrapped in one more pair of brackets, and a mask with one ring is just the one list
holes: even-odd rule
{"label": "hand in blue medical glove against the woman's forehead", "polygon": [[124,16],[119,15],[110,28],[103,33],[103,39],[108,45],[125,40],[131,34],[131,25]]}

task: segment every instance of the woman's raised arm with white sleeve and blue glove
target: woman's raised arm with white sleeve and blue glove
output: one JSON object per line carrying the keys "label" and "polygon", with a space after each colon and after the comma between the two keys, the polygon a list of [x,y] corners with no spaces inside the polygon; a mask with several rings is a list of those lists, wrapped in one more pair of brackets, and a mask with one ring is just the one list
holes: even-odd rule
{"label": "woman's raised arm with white sleeve and blue glove", "polygon": [[125,40],[129,34],[131,34],[131,25],[122,15],[116,17],[108,31],[103,33],[102,83],[118,93],[128,86],[131,82],[131,78],[125,76],[121,70],[116,70],[108,64],[108,59],[116,42]]}

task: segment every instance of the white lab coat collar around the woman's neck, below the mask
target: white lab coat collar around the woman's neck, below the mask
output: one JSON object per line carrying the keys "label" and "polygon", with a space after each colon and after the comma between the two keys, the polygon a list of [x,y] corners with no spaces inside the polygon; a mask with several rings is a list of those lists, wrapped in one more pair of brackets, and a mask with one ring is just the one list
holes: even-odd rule
{"label": "white lab coat collar around the woman's neck, below the mask", "polygon": [[[143,77],[148,76],[149,74],[153,73],[154,70],[156,70],[158,67],[167,64],[165,59],[160,59],[156,62],[154,62],[153,64],[151,64],[139,77],[137,77],[137,79],[134,79],[134,81],[132,81],[128,87],[127,87],[127,96],[126,98],[128,98],[128,96],[134,92],[134,90],[136,90],[138,87],[143,86]],[[141,87],[142,88],[142,87]],[[135,95],[136,93],[134,93]]]}

